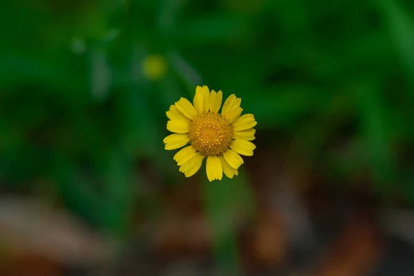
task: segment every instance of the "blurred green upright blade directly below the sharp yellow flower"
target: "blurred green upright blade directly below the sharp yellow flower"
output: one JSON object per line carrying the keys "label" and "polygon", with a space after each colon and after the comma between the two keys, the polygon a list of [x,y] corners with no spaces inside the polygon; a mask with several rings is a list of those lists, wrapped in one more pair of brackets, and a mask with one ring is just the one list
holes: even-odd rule
{"label": "blurred green upright blade directly below the sharp yellow flower", "polygon": [[203,179],[204,204],[219,275],[240,275],[236,226],[240,216],[254,211],[253,193],[242,169],[233,179],[226,176],[221,181],[210,182],[206,176]]}

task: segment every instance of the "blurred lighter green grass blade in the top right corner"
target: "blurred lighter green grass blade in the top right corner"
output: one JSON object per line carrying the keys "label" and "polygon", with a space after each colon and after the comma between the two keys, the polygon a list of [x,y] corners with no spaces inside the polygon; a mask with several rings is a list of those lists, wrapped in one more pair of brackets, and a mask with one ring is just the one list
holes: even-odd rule
{"label": "blurred lighter green grass blade in the top right corner", "polygon": [[408,66],[411,84],[414,85],[414,21],[393,0],[377,0],[375,5],[380,8],[396,50]]}

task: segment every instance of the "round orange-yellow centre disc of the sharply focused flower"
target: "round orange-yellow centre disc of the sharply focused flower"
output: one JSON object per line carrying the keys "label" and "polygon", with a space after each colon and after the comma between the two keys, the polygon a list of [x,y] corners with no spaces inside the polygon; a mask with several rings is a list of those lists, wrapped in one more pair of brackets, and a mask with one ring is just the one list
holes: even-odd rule
{"label": "round orange-yellow centre disc of the sharply focused flower", "polygon": [[190,122],[188,137],[201,155],[221,155],[233,141],[233,128],[220,114],[206,112]]}

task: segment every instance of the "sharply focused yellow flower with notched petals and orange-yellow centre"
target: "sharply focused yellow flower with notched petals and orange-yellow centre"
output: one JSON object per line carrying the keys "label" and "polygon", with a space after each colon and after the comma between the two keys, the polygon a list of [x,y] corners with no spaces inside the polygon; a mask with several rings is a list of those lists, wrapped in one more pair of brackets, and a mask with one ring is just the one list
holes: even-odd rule
{"label": "sharply focused yellow flower with notched petals and orange-yellow centre", "polygon": [[193,104],[181,98],[166,112],[170,119],[167,130],[174,132],[164,139],[166,150],[175,150],[190,143],[174,156],[179,171],[186,177],[193,176],[207,157],[209,181],[221,180],[223,172],[233,178],[243,164],[240,155],[253,155],[256,146],[251,141],[255,139],[255,117],[242,115],[242,99],[234,94],[226,99],[219,114],[222,99],[221,90],[210,92],[207,86],[197,86]]}

